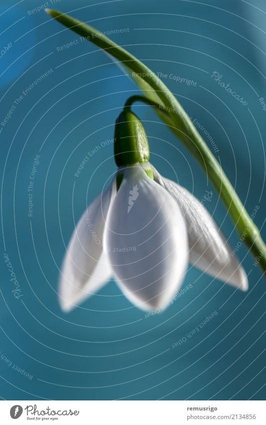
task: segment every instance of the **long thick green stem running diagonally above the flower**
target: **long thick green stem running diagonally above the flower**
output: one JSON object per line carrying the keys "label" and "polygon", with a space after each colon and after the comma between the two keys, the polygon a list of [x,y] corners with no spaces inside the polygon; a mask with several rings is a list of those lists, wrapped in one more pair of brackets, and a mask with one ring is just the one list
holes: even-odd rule
{"label": "long thick green stem running diagonally above the flower", "polygon": [[152,101],[152,106],[159,104],[159,107],[156,107],[156,112],[200,163],[221,196],[240,237],[243,235],[245,244],[254,257],[258,257],[258,264],[265,272],[266,249],[257,227],[249,217],[220,164],[207,147],[187,113],[165,84],[146,65],[95,28],[59,11],[47,9],[46,12],[61,24],[85,37],[120,61],[147,96],[149,102]]}

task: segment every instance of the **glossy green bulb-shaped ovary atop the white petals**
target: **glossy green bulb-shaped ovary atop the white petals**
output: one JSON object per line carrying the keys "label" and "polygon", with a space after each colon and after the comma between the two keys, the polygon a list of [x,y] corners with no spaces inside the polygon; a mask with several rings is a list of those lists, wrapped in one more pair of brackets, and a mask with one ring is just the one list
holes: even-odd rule
{"label": "glossy green bulb-shaped ovary atop the white petals", "polygon": [[150,150],[140,119],[129,108],[119,115],[115,124],[114,155],[118,167],[149,161]]}

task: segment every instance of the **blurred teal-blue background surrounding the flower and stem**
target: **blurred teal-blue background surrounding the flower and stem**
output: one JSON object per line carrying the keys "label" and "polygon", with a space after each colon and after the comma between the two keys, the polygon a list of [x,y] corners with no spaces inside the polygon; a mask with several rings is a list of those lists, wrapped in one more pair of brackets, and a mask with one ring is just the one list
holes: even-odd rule
{"label": "blurred teal-blue background surrounding the flower and stem", "polygon": [[[124,30],[111,38],[167,75],[164,83],[214,140],[218,152],[213,154],[248,213],[259,206],[254,221],[266,238],[266,111],[259,101],[266,99],[263,0],[252,5],[240,0],[1,2],[1,238],[22,296],[16,299],[12,292],[3,256],[0,396],[263,399],[265,282],[243,244],[237,255],[249,277],[246,293],[190,267],[184,286],[192,287],[161,314],[145,318],[114,281],[80,308],[61,311],[57,282],[65,245],[74,223],[115,171],[107,141],[125,100],[138,88],[94,45],[79,40],[62,48],[79,36],[50,19],[43,10],[47,6],[103,32]],[[38,7],[40,12],[33,11]],[[214,72],[247,104],[225,91]],[[154,111],[141,104],[134,111],[149,136],[151,162],[199,199],[212,191],[205,206],[232,247],[239,245],[197,162]],[[87,153],[101,143],[105,146],[75,177]],[[40,164],[29,217],[36,155]],[[218,314],[200,332],[172,348],[214,311]]]}

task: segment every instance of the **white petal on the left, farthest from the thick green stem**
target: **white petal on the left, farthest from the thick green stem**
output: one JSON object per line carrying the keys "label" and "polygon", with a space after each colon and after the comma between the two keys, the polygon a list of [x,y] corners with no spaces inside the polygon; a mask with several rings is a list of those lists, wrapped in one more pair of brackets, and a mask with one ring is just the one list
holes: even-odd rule
{"label": "white petal on the left, farthest from the thick green stem", "polygon": [[64,311],[93,295],[111,277],[103,253],[103,231],[114,196],[115,182],[91,203],[72,234],[59,283],[59,300]]}

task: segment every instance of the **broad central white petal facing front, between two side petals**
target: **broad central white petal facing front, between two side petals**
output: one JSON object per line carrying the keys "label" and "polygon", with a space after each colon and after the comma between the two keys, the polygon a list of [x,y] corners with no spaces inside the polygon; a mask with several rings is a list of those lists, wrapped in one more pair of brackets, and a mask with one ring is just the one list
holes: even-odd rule
{"label": "broad central white petal facing front, between two side petals", "polygon": [[139,308],[163,309],[188,262],[187,232],[174,199],[139,164],[127,167],[104,231],[118,284]]}

